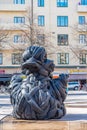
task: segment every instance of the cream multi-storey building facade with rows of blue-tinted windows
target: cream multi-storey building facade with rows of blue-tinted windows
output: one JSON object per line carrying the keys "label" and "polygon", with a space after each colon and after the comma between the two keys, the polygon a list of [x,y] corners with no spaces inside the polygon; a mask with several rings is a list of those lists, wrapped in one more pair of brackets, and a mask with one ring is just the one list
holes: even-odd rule
{"label": "cream multi-storey building facade with rows of blue-tinted windows", "polygon": [[[14,46],[25,42],[18,26],[26,23],[28,9],[36,18],[32,22],[51,34],[50,48],[54,48],[48,57],[54,60],[55,71],[86,79],[87,0],[0,0],[0,26],[10,32],[8,42]],[[0,73],[19,73],[20,58],[15,49],[1,49]]]}

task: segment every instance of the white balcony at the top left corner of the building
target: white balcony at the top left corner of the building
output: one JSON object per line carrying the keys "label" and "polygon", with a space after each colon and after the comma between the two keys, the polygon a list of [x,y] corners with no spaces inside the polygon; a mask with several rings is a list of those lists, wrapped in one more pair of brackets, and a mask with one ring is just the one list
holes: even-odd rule
{"label": "white balcony at the top left corner of the building", "polygon": [[26,4],[0,4],[0,11],[26,11]]}

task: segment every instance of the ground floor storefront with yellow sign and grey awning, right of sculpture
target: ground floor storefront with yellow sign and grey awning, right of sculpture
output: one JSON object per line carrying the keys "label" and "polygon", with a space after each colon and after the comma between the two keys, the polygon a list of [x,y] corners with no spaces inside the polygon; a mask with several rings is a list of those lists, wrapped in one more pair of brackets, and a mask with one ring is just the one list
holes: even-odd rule
{"label": "ground floor storefront with yellow sign and grey awning, right of sculpture", "polygon": [[66,73],[69,74],[69,81],[81,81],[82,83],[87,82],[87,68],[83,67],[74,67],[74,68],[68,68],[68,67],[62,67],[58,68],[56,67],[54,70],[55,74],[60,74],[60,73]]}

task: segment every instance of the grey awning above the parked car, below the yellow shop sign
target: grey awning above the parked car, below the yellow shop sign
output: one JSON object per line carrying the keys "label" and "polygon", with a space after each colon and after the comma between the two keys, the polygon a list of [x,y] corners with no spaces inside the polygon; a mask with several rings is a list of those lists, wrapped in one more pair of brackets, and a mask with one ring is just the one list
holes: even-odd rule
{"label": "grey awning above the parked car, below the yellow shop sign", "polygon": [[87,74],[70,74],[69,80],[87,80]]}

